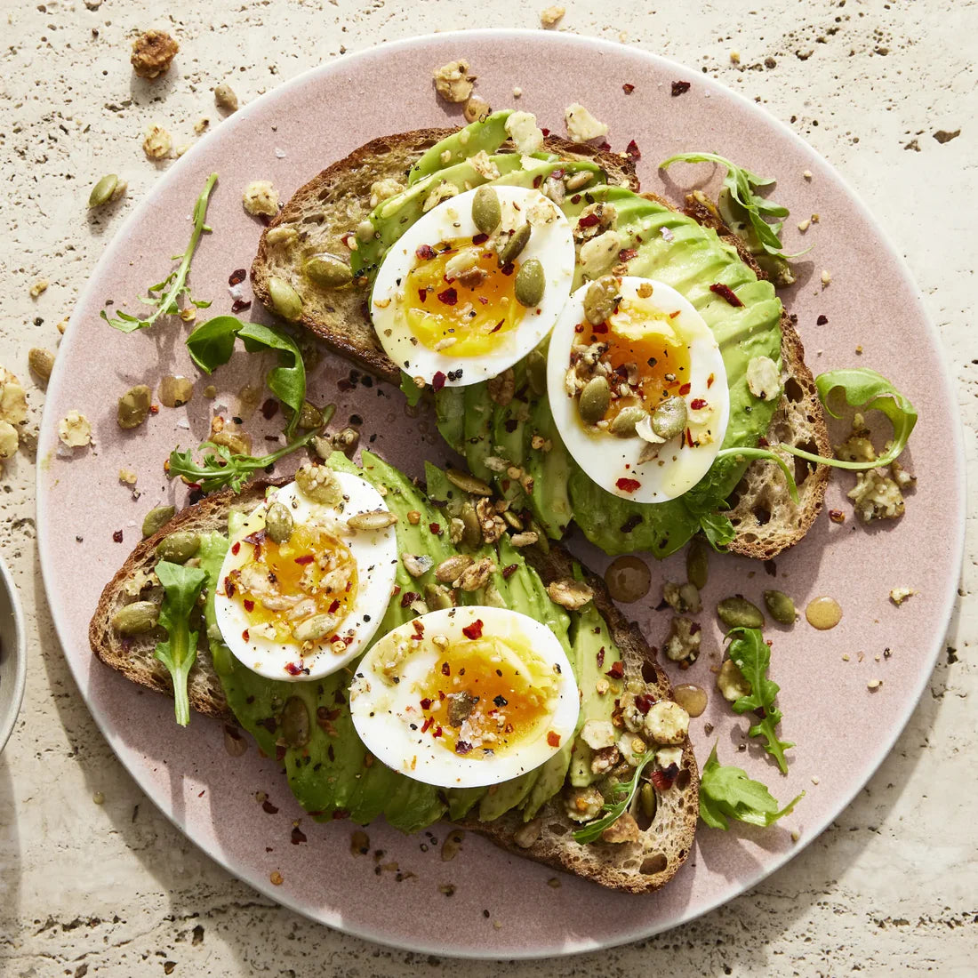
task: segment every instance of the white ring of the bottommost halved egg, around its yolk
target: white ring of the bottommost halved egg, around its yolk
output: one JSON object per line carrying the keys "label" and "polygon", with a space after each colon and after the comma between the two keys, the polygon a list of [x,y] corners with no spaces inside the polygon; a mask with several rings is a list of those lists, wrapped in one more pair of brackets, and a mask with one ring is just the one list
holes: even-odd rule
{"label": "white ring of the bottommost halved egg, around its yolk", "polygon": [[[482,634],[509,638],[524,645],[554,668],[557,686],[551,700],[552,713],[534,739],[515,744],[493,757],[459,755],[431,736],[422,733],[424,717],[416,684],[439,669],[445,655],[431,642],[445,636],[450,642],[465,642],[463,629],[482,621]],[[416,622],[423,636],[417,639]],[[397,666],[396,683],[386,680],[380,663],[398,643],[410,650]],[[558,671],[557,671],[558,670]],[[446,686],[450,683],[446,680]],[[580,697],[573,668],[554,633],[527,615],[506,608],[463,606],[431,611],[383,636],[357,667],[350,688],[353,725],[368,750],[389,768],[409,778],[440,787],[477,787],[498,784],[533,771],[553,757],[574,734],[580,712]],[[421,719],[419,719],[421,718]],[[549,732],[559,744],[548,743]]]}

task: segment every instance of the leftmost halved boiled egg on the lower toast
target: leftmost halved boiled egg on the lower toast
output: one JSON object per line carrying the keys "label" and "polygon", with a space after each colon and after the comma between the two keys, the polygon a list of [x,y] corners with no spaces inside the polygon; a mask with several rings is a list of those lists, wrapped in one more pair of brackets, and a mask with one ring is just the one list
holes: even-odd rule
{"label": "leftmost halved boiled egg on the lower toast", "polygon": [[[397,568],[394,520],[377,489],[325,466],[304,466],[298,479],[308,492],[296,482],[273,490],[232,535],[214,596],[225,644],[269,679],[317,679],[359,655]],[[351,527],[354,516],[377,528]]]}

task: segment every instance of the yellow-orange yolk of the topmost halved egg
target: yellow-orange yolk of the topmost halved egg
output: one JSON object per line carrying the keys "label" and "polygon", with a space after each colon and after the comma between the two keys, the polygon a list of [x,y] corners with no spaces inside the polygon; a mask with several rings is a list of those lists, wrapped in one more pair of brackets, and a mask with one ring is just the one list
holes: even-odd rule
{"label": "yellow-orange yolk of the topmost halved egg", "polygon": [[495,350],[519,325],[513,293],[518,263],[500,268],[485,235],[422,244],[404,282],[411,332],[430,350],[474,357]]}

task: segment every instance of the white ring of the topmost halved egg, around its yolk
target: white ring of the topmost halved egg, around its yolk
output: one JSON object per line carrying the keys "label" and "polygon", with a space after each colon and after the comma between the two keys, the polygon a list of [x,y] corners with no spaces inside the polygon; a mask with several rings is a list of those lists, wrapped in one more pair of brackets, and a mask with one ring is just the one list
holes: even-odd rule
{"label": "white ring of the topmost halved egg, around its yolk", "polygon": [[[574,238],[566,217],[552,200],[538,190],[494,184],[503,208],[502,226],[522,223],[535,205],[547,207],[552,220],[532,224],[529,243],[517,259],[537,258],[544,267],[546,288],[538,306],[523,310],[517,327],[500,337],[497,347],[472,356],[452,355],[451,347],[433,350],[425,347],[411,331],[403,310],[402,283],[417,263],[415,251],[422,244],[471,238],[478,234],[472,221],[475,191],[443,200],[413,224],[392,244],[378,270],[370,313],[384,352],[409,377],[431,383],[436,374],[445,376],[445,386],[464,387],[486,378],[497,377],[522,359],[554,328],[560,310],[570,294],[574,275]],[[461,377],[448,375],[460,371]]]}

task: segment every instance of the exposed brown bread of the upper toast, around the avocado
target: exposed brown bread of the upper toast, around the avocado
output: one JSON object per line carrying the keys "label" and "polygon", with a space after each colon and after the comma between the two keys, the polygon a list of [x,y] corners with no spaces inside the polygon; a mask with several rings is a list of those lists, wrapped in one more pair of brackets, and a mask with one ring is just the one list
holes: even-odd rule
{"label": "exposed brown bread of the upper toast, around the avocado", "polygon": [[[340,159],[300,188],[279,212],[261,237],[258,253],[251,265],[254,294],[271,308],[268,280],[272,275],[286,279],[302,295],[301,323],[329,347],[380,378],[400,382],[400,371],[381,348],[367,312],[366,288],[312,289],[296,274],[295,251],[291,247],[270,247],[273,229],[294,227],[298,245],[305,250],[348,253],[346,240],[351,228],[371,211],[371,187],[382,179],[403,179],[411,164],[434,143],[451,134],[450,129],[420,129],[385,136],[366,144]],[[582,147],[549,136],[547,149],[562,156],[592,158],[618,183],[638,191],[632,161],[623,155]],[[657,195],[646,195],[667,207],[674,207]],[[733,235],[716,208],[702,195],[690,195],[684,208],[694,220],[713,228],[727,243],[733,244],[741,260],[759,279],[767,279],[747,245]],[[781,383],[784,396],[769,428],[768,440],[806,447],[822,456],[831,455],[822,404],[815,379],[805,365],[805,350],[790,317],[781,315]],[[788,464],[793,460],[787,457]],[[799,502],[787,492],[780,469],[769,462],[755,462],[747,468],[732,497],[729,512],[736,537],[730,545],[735,554],[770,559],[796,544],[808,532],[822,510],[827,467],[796,465]]]}

